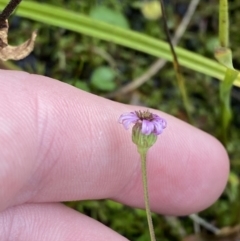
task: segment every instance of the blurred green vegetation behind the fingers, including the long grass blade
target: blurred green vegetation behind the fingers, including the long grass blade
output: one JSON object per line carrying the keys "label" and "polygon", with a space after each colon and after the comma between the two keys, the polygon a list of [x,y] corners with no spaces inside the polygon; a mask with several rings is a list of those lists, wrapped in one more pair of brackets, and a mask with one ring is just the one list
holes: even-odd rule
{"label": "blurred green vegetation behind the fingers, including the long grass blade", "polygon": [[[186,7],[189,2],[185,0],[181,4]],[[218,45],[218,2],[213,1],[209,5],[208,1],[200,1],[188,30],[181,37],[177,54],[183,67],[194,125],[224,141],[231,159],[231,173],[225,192],[212,207],[200,214],[205,220],[223,228],[236,226],[240,221],[240,78],[234,82],[231,104],[226,103],[227,108],[231,109],[232,121],[225,124],[227,136],[222,138],[224,100],[221,98],[228,97],[229,92],[224,92],[224,85],[220,88],[218,81],[224,79],[226,67],[214,59],[214,48]],[[0,0],[0,9],[6,3],[6,0]],[[182,19],[179,5],[174,8],[173,3],[167,5],[171,33],[176,31]],[[229,6],[230,43],[236,69],[240,69],[239,7],[238,0],[231,1]],[[47,75],[96,95],[161,109],[187,120],[170,62],[140,87],[125,91],[125,94],[116,93],[142,76],[156,57],[172,60],[162,25],[159,21],[145,19],[139,2],[23,1],[10,18],[9,43],[23,42],[35,29],[38,30],[38,38],[33,54],[15,62],[16,66],[6,63],[5,67]],[[230,89],[229,84],[225,86]],[[147,219],[143,210],[110,200],[70,202],[67,205],[110,226],[130,240],[148,240]],[[182,240],[180,229],[186,234],[194,232],[189,218],[175,221],[179,229],[169,219],[153,215],[159,240]]]}

